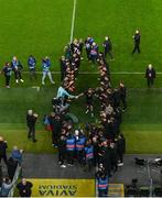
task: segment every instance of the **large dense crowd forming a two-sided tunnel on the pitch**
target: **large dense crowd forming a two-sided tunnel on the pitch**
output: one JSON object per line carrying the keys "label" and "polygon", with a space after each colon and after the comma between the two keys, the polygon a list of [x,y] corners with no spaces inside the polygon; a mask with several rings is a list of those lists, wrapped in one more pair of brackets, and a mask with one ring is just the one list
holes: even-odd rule
{"label": "large dense crowd forming a two-sided tunnel on the pitch", "polygon": [[[66,81],[66,75],[69,74],[66,73],[66,69],[71,69],[73,70],[72,74],[75,74],[75,68],[79,68],[79,65],[74,64],[75,67],[72,67],[72,64],[74,52],[79,54],[79,63],[83,58],[80,48],[83,48],[84,43],[80,43],[80,41],[74,40],[72,44],[74,47],[73,53],[69,53],[69,46],[66,47],[65,56],[65,56],[61,59],[63,84],[58,88],[57,96],[52,100],[53,112],[50,116],[45,116],[44,123],[46,129],[52,131],[52,143],[58,150],[61,167],[80,165],[87,172],[91,170],[93,167],[97,167],[96,177],[98,183],[102,183],[104,179],[107,180],[111,174],[117,172],[118,166],[123,165],[126,141],[120,132],[120,124],[121,114],[127,108],[127,91],[123,82],[120,82],[116,89],[111,87],[110,70],[106,59],[107,53],[114,59],[111,53],[108,50],[98,52],[98,46],[94,38],[87,37],[85,41],[86,54],[88,61],[98,65],[100,74],[98,78],[99,86],[97,88],[87,88],[79,96],[85,96],[86,113],[90,113],[91,117],[94,117],[94,97],[98,99],[100,121],[98,124],[86,123],[78,129],[74,128],[73,121],[67,120],[66,113],[69,111],[69,99],[78,98],[79,96],[72,95],[74,89],[68,89],[65,86],[67,84],[64,84],[64,81]],[[106,42],[108,41],[109,38],[106,37]],[[66,67],[66,64],[69,67]],[[63,103],[64,107],[67,105],[67,108],[63,108]],[[100,190],[100,194],[102,191]]]}

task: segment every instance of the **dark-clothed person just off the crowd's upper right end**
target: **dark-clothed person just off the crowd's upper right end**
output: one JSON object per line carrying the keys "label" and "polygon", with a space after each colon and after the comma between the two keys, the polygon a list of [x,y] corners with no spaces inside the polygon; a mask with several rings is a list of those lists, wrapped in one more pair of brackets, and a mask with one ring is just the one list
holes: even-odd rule
{"label": "dark-clothed person just off the crowd's upper right end", "polygon": [[102,43],[104,46],[104,54],[105,57],[107,57],[107,54],[110,56],[110,61],[115,61],[111,51],[112,51],[112,44],[109,36],[105,37],[105,42]]}

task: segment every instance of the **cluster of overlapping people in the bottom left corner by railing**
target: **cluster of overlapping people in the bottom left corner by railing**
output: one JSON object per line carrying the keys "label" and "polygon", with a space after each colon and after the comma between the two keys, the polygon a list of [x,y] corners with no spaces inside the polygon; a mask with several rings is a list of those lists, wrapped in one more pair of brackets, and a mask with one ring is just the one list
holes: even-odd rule
{"label": "cluster of overlapping people in the bottom left corner by railing", "polygon": [[[13,177],[18,165],[22,163],[22,150],[13,146],[10,156],[7,155],[8,143],[0,136],[0,197],[8,197],[13,187]],[[3,160],[4,163],[1,163]],[[6,167],[3,167],[6,166]],[[4,174],[3,169],[7,169]]]}

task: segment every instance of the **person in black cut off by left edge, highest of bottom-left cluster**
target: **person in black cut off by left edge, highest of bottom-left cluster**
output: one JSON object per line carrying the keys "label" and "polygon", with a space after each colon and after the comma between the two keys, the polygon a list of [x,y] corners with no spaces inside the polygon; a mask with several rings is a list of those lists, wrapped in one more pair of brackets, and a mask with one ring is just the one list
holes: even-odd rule
{"label": "person in black cut off by left edge, highest of bottom-left cluster", "polygon": [[7,141],[4,141],[2,136],[0,136],[0,164],[1,164],[1,160],[3,160],[6,164],[8,164],[7,148],[8,148]]}

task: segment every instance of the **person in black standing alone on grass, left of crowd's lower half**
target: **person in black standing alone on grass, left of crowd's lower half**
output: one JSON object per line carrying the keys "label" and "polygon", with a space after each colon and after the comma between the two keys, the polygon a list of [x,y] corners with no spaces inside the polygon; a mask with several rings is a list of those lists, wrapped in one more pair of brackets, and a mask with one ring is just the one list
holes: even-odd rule
{"label": "person in black standing alone on grass, left of crowd's lower half", "polygon": [[35,140],[35,123],[37,120],[37,114],[33,113],[33,110],[29,110],[26,114],[26,125],[29,128],[28,138],[33,140],[33,142],[36,142]]}

